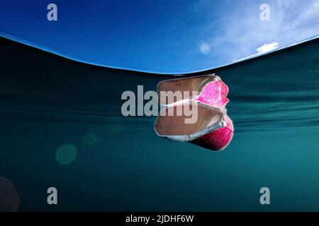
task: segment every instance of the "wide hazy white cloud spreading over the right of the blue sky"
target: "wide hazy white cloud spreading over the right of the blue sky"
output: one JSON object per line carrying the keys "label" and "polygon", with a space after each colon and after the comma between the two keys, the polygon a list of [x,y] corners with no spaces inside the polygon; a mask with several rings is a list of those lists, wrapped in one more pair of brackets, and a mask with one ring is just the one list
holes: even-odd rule
{"label": "wide hazy white cloud spreading over the right of the blue sky", "polygon": [[[211,30],[211,37],[205,34],[207,44],[215,49],[223,64],[271,52],[279,49],[279,44],[287,47],[319,35],[319,0],[269,0],[267,4],[269,21],[260,20],[258,3],[242,2],[231,10],[225,7],[220,21],[206,25],[205,31]],[[205,8],[201,13],[211,9],[207,3]],[[215,60],[216,55],[209,56],[211,61]]]}

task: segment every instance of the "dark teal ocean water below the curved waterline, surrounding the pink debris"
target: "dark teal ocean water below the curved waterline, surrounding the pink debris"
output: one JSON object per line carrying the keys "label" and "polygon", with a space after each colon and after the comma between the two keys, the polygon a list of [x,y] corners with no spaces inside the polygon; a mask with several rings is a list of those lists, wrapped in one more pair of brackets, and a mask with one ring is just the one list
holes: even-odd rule
{"label": "dark teal ocean water below the curved waterline, surrounding the pink debris", "polygon": [[[1,40],[0,177],[13,182],[21,211],[318,211],[318,49],[313,40],[185,75],[216,73],[229,87],[233,141],[212,152],[160,138],[155,117],[121,115],[123,91],[156,90],[172,75]],[[270,205],[259,203],[264,186]]]}

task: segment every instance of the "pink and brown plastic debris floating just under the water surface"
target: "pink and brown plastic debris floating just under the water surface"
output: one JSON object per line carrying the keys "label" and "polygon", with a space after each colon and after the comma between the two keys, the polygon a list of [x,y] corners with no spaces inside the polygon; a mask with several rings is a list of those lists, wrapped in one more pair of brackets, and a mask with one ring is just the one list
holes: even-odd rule
{"label": "pink and brown plastic debris floating just under the water surface", "polygon": [[[161,81],[157,93],[159,103],[167,106],[155,121],[158,136],[171,141],[189,141],[210,150],[223,150],[232,140],[233,121],[225,109],[229,101],[228,86],[220,77],[208,75]],[[186,114],[189,109],[196,112],[196,117]],[[196,120],[190,120],[194,118]]]}

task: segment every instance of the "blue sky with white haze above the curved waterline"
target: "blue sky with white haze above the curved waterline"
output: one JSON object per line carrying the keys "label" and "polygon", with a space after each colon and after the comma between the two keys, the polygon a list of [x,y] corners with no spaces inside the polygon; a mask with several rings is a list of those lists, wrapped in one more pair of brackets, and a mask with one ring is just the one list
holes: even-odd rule
{"label": "blue sky with white haze above the curved waterline", "polygon": [[318,37],[319,0],[11,0],[0,35],[89,64],[190,73]]}

